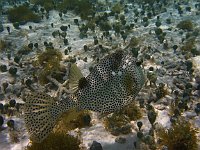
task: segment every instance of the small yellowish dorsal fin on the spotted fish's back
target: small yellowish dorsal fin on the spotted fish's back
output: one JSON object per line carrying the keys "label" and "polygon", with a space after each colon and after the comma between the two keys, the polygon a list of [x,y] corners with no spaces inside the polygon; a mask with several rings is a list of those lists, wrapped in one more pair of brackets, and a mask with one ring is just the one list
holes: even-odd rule
{"label": "small yellowish dorsal fin on the spotted fish's back", "polygon": [[76,64],[71,64],[69,70],[69,90],[74,93],[79,88],[79,80],[83,78],[81,70],[77,67]]}

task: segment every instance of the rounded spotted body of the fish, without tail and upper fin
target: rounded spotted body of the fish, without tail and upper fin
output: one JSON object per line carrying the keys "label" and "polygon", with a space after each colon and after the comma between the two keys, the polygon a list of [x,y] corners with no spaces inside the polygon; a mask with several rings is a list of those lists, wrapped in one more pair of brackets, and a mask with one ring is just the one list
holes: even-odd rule
{"label": "rounded spotted body of the fish, without tail and upper fin", "polygon": [[144,75],[131,54],[106,56],[74,94],[80,109],[111,113],[129,104],[144,84]]}

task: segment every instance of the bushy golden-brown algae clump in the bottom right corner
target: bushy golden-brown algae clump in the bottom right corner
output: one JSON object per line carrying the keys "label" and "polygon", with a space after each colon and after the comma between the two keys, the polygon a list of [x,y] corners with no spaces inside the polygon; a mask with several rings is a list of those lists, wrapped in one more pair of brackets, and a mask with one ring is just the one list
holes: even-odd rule
{"label": "bushy golden-brown algae clump in the bottom right corner", "polygon": [[179,118],[169,129],[161,128],[157,136],[159,145],[167,146],[168,150],[197,150],[197,130],[184,118]]}

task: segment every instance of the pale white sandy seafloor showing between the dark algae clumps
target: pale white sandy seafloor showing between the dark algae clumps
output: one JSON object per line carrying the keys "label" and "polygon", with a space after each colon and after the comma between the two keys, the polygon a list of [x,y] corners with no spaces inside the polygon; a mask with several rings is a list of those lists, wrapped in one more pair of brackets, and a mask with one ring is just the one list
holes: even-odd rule
{"label": "pale white sandy seafloor showing between the dark algae clumps", "polygon": [[[130,38],[132,36],[140,36],[142,37],[142,42],[140,43],[140,49],[141,51],[144,49],[145,46],[151,46],[153,49],[157,49],[158,52],[153,53],[153,57],[155,59],[154,63],[151,63],[150,61],[146,60],[144,62],[144,68],[148,69],[150,66],[154,66],[155,68],[158,68],[160,70],[164,70],[166,72],[165,75],[161,76],[158,75],[158,83],[165,83],[168,84],[169,86],[169,91],[171,90],[170,88],[174,87],[172,81],[174,76],[171,75],[170,71],[167,70],[165,67],[160,65],[160,62],[163,60],[165,62],[168,62],[170,64],[176,64],[179,61],[185,61],[184,57],[177,53],[174,54],[172,46],[174,44],[181,45],[181,38],[185,36],[186,32],[183,32],[183,35],[179,34],[179,30],[176,28],[176,25],[184,19],[190,19],[192,22],[195,24],[195,27],[200,29],[200,15],[196,15],[197,10],[195,9],[194,5],[196,4],[196,1],[192,0],[189,1],[189,6],[191,6],[192,10],[191,12],[186,12],[180,16],[178,14],[178,11],[169,5],[167,7],[167,12],[159,14],[160,20],[162,22],[161,29],[163,29],[165,32],[167,32],[166,39],[168,41],[168,49],[165,50],[163,48],[163,44],[160,44],[157,38],[155,37],[155,34],[152,33],[151,35],[149,34],[149,31],[155,28],[155,21],[156,17],[153,17],[149,21],[149,25],[147,27],[142,26],[141,19],[138,19],[138,23],[136,23],[137,28],[134,28],[132,32],[128,35],[126,43],[123,43],[123,40],[121,37],[115,36],[114,32],[111,32],[111,36],[113,37],[113,44],[118,44],[119,47],[125,47],[127,43],[129,42]],[[181,5],[182,7],[185,7],[184,5]],[[130,10],[133,8],[140,10],[138,5],[134,4],[129,4]],[[172,16],[170,16],[170,12],[172,12]],[[100,12],[99,12],[100,13]],[[125,14],[126,20],[128,23],[133,21],[134,15],[133,11],[129,11],[128,14]],[[166,24],[165,20],[166,18],[171,17],[172,18],[172,23],[171,24]],[[1,16],[2,23],[4,26],[4,31],[0,33],[0,39],[10,41],[12,43],[11,46],[11,51],[12,53],[16,53],[17,50],[19,50],[23,45],[27,45],[28,43],[36,43],[38,42],[39,48],[44,50],[43,42],[44,41],[49,41],[53,43],[54,48],[59,49],[62,53],[64,58],[68,57],[68,55],[64,55],[64,50],[68,47],[72,47],[72,52],[69,53],[69,55],[77,55],[77,57],[82,57],[84,58],[85,56],[88,57],[87,62],[84,62],[83,60],[78,60],[77,59],[77,65],[80,67],[82,70],[82,73],[84,76],[87,76],[89,73],[88,68],[95,64],[93,61],[90,52],[84,52],[83,46],[85,44],[87,45],[93,45],[93,36],[96,35],[100,37],[102,35],[102,32],[99,31],[99,29],[96,29],[96,33],[93,33],[91,31],[88,31],[88,37],[84,39],[79,38],[79,29],[77,25],[74,24],[74,18],[80,18],[76,15],[74,15],[72,12],[67,12],[67,14],[63,15],[63,20],[60,19],[58,12],[57,11],[51,11],[50,12],[50,17],[49,19],[43,19],[40,23],[31,23],[28,22],[25,25],[20,26],[21,29],[16,30],[12,26],[11,23],[6,19],[6,16]],[[110,22],[112,23],[114,21],[114,18],[110,18]],[[51,23],[54,23],[54,28],[52,29]],[[80,23],[84,23],[84,21],[80,21]],[[68,25],[70,24],[71,27],[67,31],[67,39],[69,40],[69,45],[64,46],[62,39],[60,38],[53,38],[52,36],[52,31],[59,30],[61,25]],[[33,29],[29,30],[29,26],[32,26]],[[8,34],[6,27],[9,26],[11,28],[11,34]],[[172,30],[167,30],[167,28],[171,28]],[[170,41],[170,39],[173,38],[173,41]],[[106,47],[106,39],[100,41],[100,43]],[[107,47],[110,47],[109,45]],[[200,50],[200,35],[197,36],[196,38],[196,48]],[[178,49],[177,51],[180,51]],[[24,61],[28,61],[29,58],[33,57],[35,55],[34,52],[30,53],[29,55],[26,55],[23,57]],[[191,57],[191,60],[193,60],[195,66],[195,74],[200,73],[200,56],[196,57]],[[15,63],[13,63],[13,57],[11,57],[11,60],[8,60],[6,57],[5,53],[1,53],[0,55],[0,65],[5,64],[7,67],[9,66],[15,66]],[[17,66],[18,67],[18,66]],[[8,91],[5,94],[4,98],[0,99],[1,103],[6,103],[10,99],[16,99],[17,102],[22,102],[20,97],[16,96],[16,91],[22,87],[21,85],[21,79],[22,78],[28,78],[29,75],[27,75],[24,72],[24,68],[19,68],[18,67],[18,72],[17,72],[17,77],[13,79],[11,75],[9,75],[8,72],[2,73],[0,72],[0,83],[3,83],[5,81],[7,82],[15,82],[15,84],[9,84]],[[181,72],[181,70],[180,70]],[[184,74],[184,71],[182,72]],[[15,81],[13,81],[15,80]],[[192,80],[192,84],[195,85],[195,79]],[[176,88],[176,87],[175,87]],[[52,91],[49,94],[53,94],[55,91]],[[2,91],[1,91],[2,94]],[[144,89],[140,92],[139,97],[144,97],[148,98],[149,97],[149,90]],[[138,97],[136,100],[139,99]],[[173,99],[173,95],[167,95],[164,98],[160,99],[156,103],[152,103],[154,108],[156,109],[156,112],[158,113],[156,122],[162,124],[164,127],[169,128],[171,123],[170,123],[170,118],[169,118],[169,106],[168,106],[168,101]],[[194,112],[194,106],[196,103],[200,102],[200,98],[195,98],[195,101],[193,104],[190,105],[190,108],[188,111],[185,111],[182,115],[185,116],[186,118],[189,119],[189,121],[196,127],[197,129],[200,128],[200,117],[196,115]],[[25,126],[24,126],[24,121],[22,116],[17,116],[17,117],[7,117],[4,116],[5,121],[3,124],[4,130],[0,131],[0,150],[21,150],[24,148],[29,143],[28,139],[28,133],[26,132]],[[192,118],[192,119],[191,119]],[[16,128],[17,130],[20,130],[21,136],[20,136],[20,142],[18,143],[11,143],[10,142],[10,137],[9,137],[9,129],[6,125],[6,122],[8,119],[13,119],[16,122]],[[102,120],[97,119],[97,114],[93,113],[92,116],[92,123],[93,125],[88,128],[82,128],[80,129],[81,132],[81,138],[82,138],[82,145],[86,148],[89,148],[92,142],[95,140],[103,146],[104,150],[133,150],[134,145],[133,141],[137,140],[136,136],[136,122],[132,121],[131,124],[133,126],[132,128],[132,133],[128,135],[120,135],[121,137],[126,138],[126,143],[124,144],[119,144],[115,142],[116,136],[111,135],[109,132],[107,132],[103,126]],[[148,132],[150,129],[150,123],[148,122],[147,115],[144,113],[144,116],[142,119],[140,119],[143,122],[143,127],[142,129],[144,132]],[[76,133],[75,131],[72,131],[72,134]],[[200,134],[198,134],[198,138],[200,138]]]}

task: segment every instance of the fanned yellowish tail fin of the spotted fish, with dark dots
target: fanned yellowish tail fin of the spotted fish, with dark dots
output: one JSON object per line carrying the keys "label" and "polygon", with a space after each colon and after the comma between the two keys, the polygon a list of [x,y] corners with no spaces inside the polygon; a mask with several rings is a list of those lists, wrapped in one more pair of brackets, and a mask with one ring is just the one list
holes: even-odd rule
{"label": "fanned yellowish tail fin of the spotted fish, with dark dots", "polygon": [[44,93],[26,93],[24,101],[24,120],[30,139],[40,143],[52,131],[63,110],[55,98]]}

